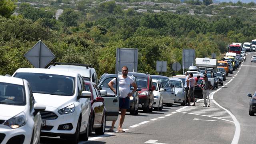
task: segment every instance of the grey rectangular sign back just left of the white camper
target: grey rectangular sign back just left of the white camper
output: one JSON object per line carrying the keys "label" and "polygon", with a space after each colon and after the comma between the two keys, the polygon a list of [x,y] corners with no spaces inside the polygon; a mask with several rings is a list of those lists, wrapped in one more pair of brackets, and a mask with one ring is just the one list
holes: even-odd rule
{"label": "grey rectangular sign back just left of the white camper", "polygon": [[187,69],[189,66],[194,66],[195,61],[195,50],[194,49],[183,49],[182,52],[182,68]]}

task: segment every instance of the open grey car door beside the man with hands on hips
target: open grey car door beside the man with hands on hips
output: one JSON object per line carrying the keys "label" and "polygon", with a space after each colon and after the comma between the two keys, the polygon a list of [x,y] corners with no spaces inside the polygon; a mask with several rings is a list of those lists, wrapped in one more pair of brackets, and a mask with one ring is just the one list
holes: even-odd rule
{"label": "open grey car door beside the man with hands on hips", "polygon": [[[108,87],[108,83],[116,78],[116,84],[114,84],[114,88],[116,88],[116,94]],[[119,84],[118,84],[118,75],[117,74],[108,74],[104,78],[101,78],[100,84],[98,85],[100,90],[106,90],[107,95],[102,97],[104,98],[104,104],[107,109],[107,117],[106,120],[117,120],[119,114]]]}

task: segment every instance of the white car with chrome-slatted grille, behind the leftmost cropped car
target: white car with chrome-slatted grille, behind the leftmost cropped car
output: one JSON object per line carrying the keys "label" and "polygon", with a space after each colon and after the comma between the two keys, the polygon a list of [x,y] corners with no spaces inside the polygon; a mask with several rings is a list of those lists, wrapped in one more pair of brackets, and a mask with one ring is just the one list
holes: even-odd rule
{"label": "white car with chrome-slatted grille, behind the leftmost cropped car", "polygon": [[42,136],[67,138],[70,144],[88,140],[91,92],[85,91],[78,73],[44,68],[19,68],[14,77],[31,85],[34,98],[46,106],[42,116]]}

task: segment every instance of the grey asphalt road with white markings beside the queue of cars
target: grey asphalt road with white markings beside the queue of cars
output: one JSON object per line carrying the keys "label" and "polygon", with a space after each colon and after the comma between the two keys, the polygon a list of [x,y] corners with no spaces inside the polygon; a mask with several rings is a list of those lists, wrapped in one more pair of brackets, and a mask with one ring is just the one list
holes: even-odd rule
{"label": "grey asphalt road with white markings beside the queue of cars", "polygon": [[[164,106],[160,112],[128,112],[123,129],[125,133],[105,132],[93,134],[88,142],[79,144],[252,144],[256,143],[255,116],[249,116],[248,93],[256,90],[256,64],[250,62],[252,54],[233,74],[229,74],[224,86],[211,91],[210,107],[203,107],[198,99],[196,106]],[[231,113],[230,113],[231,112]],[[116,122],[116,127],[118,126]],[[106,122],[106,131],[111,122]],[[116,130],[116,128],[115,128]],[[42,144],[65,143],[60,138],[41,138]]]}

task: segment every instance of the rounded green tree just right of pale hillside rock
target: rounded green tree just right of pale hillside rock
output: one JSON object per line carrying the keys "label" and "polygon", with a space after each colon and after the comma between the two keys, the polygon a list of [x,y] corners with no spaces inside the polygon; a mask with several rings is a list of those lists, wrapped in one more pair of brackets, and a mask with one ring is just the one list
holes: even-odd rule
{"label": "rounded green tree just right of pale hillside rock", "polygon": [[65,26],[77,26],[77,20],[79,18],[79,14],[72,9],[66,9],[60,15],[58,20],[64,23]]}

